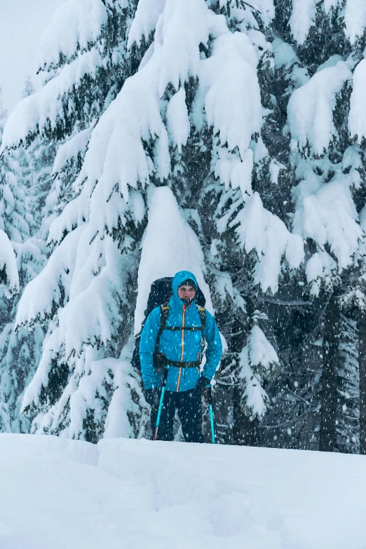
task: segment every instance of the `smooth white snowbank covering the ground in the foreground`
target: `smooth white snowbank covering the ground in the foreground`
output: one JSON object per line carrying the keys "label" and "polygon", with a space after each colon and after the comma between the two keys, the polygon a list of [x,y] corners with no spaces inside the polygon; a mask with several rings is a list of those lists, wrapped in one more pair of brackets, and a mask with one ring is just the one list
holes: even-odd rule
{"label": "smooth white snowbank covering the ground in the foreground", "polygon": [[365,457],[0,435],[1,549],[364,549]]}

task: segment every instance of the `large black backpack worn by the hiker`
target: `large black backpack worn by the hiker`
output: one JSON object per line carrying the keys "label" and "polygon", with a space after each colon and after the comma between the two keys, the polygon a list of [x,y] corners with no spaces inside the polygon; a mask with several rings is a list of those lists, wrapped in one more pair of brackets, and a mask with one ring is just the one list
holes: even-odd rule
{"label": "large black backpack worn by the hiker", "polygon": [[[140,337],[142,328],[144,327],[144,323],[146,322],[147,317],[155,309],[156,307],[161,307],[161,322],[160,327],[158,331],[158,337],[156,337],[156,351],[155,355],[157,355],[157,349],[159,340],[161,337],[161,334],[165,328],[166,320],[168,318],[169,314],[169,299],[172,297],[172,276],[165,276],[165,278],[158,278],[158,280],[155,280],[151,284],[149,297],[147,299],[147,308],[144,311],[144,322],[142,323],[140,334],[137,334],[135,339],[135,348],[133,350],[133,358],[132,358],[132,365],[133,367],[137,368],[137,370],[141,370],[140,366],[140,355],[139,355],[139,347],[140,347]],[[194,328],[193,330],[203,330],[205,327],[205,321],[206,321],[206,311],[205,311],[205,296],[203,295],[202,290],[200,287],[197,287],[196,292],[196,307],[198,310],[198,314],[201,318],[201,327]],[[182,328],[177,327],[177,330],[182,330]],[[187,328],[186,328],[187,330]],[[155,360],[154,360],[155,365]],[[158,367],[158,364],[156,364]]]}

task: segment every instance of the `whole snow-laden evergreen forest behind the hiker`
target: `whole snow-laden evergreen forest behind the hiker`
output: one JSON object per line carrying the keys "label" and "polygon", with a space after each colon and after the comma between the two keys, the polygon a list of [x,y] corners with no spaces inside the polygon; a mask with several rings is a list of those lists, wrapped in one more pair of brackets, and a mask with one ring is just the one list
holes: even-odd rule
{"label": "whole snow-laden evergreen forest behind the hiker", "polygon": [[0,431],[149,436],[135,335],[189,269],[218,442],[366,453],[365,29],[362,0],[58,8],[0,113]]}

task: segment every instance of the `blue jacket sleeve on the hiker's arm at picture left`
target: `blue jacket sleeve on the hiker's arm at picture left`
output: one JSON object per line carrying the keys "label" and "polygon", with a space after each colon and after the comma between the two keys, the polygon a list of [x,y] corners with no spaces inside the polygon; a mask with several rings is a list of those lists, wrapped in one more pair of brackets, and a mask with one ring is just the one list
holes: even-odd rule
{"label": "blue jacket sleeve on the hiker's arm at picture left", "polygon": [[160,307],[156,307],[144,324],[141,332],[139,354],[141,364],[141,377],[145,389],[152,389],[160,386],[161,376],[158,374],[154,367],[154,351],[156,338],[158,337],[158,331],[161,321]]}

